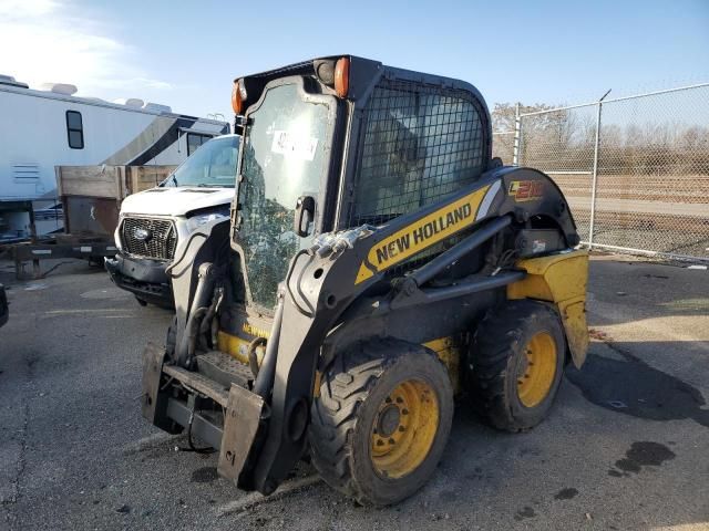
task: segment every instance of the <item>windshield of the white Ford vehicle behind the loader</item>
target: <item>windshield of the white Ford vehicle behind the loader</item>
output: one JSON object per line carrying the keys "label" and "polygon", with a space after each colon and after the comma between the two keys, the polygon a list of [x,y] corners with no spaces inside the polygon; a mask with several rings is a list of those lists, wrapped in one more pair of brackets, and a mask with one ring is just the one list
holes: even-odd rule
{"label": "windshield of the white Ford vehicle behind the loader", "polygon": [[212,138],[182,163],[165,186],[233,187],[238,148],[238,136]]}

